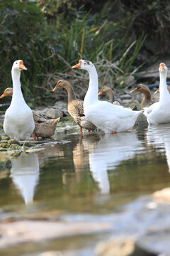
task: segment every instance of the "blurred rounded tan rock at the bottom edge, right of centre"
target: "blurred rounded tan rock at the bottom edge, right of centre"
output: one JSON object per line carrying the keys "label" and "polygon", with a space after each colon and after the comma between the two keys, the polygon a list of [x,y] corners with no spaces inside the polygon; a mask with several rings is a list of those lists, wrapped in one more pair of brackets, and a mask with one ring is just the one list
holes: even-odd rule
{"label": "blurred rounded tan rock at the bottom edge, right of centre", "polygon": [[96,256],[128,256],[135,249],[135,242],[130,238],[111,239],[99,242],[96,246]]}

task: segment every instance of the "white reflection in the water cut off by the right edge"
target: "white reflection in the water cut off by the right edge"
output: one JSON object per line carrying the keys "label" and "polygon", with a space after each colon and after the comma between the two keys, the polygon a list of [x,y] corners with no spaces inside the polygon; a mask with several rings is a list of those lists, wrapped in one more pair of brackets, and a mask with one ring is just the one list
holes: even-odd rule
{"label": "white reflection in the water cut off by the right edge", "polygon": [[165,151],[170,172],[170,124],[157,124],[148,127],[146,132],[147,145],[156,151]]}

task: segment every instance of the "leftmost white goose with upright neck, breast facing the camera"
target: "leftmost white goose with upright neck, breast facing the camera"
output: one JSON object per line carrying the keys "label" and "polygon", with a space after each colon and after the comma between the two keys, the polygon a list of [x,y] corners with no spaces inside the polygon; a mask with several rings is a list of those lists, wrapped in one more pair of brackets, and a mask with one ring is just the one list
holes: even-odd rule
{"label": "leftmost white goose with upright neck, breast facing the camera", "polygon": [[35,127],[33,112],[26,104],[21,91],[21,70],[27,70],[27,68],[23,65],[23,60],[16,60],[11,70],[13,97],[4,119],[4,132],[18,140],[28,139]]}

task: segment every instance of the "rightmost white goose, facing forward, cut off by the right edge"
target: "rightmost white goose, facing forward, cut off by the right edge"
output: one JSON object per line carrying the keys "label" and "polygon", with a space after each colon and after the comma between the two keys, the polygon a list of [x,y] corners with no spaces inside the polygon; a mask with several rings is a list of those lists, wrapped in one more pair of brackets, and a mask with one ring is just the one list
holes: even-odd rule
{"label": "rightmost white goose, facing forward, cut off by the right edge", "polygon": [[159,65],[159,102],[155,102],[149,107],[144,108],[145,117],[149,124],[164,124],[170,122],[170,94],[166,85],[168,68],[166,64],[160,63]]}

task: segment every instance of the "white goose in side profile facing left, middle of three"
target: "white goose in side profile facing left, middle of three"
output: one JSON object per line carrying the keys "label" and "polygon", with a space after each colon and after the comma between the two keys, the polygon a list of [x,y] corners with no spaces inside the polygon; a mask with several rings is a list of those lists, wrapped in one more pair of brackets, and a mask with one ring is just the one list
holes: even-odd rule
{"label": "white goose in side profile facing left, middle of three", "polygon": [[91,61],[79,60],[79,63],[72,68],[80,68],[89,73],[89,88],[84,97],[84,114],[89,121],[107,134],[132,129],[142,111],[132,111],[113,105],[111,102],[98,100],[98,74]]}

